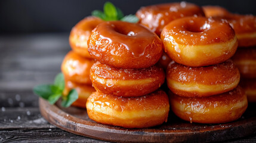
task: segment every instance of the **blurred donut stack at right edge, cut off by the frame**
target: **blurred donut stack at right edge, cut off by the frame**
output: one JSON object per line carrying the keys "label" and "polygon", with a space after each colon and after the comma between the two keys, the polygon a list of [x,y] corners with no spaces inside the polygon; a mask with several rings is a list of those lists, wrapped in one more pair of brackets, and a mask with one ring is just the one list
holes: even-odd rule
{"label": "blurred donut stack at right edge, cut off by the frame", "polygon": [[203,7],[205,15],[229,21],[238,38],[238,50],[232,57],[241,74],[239,85],[249,102],[256,102],[256,17],[229,13],[218,6]]}

